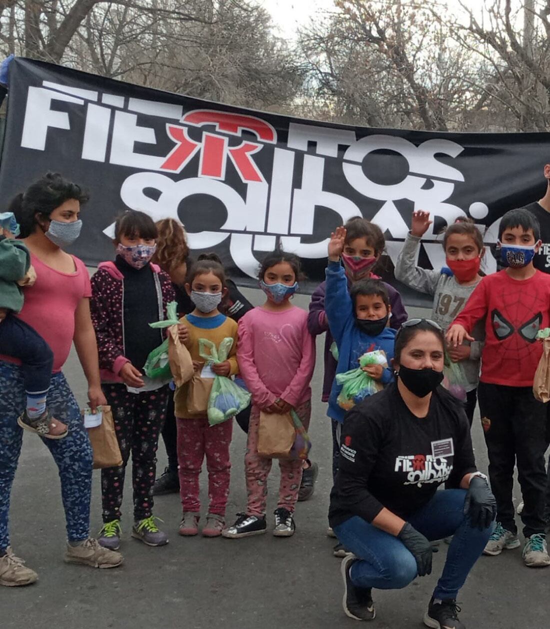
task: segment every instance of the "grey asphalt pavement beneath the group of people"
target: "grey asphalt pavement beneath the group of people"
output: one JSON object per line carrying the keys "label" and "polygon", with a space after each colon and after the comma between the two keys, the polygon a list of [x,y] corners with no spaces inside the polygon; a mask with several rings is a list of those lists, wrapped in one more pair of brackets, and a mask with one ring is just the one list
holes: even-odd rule
{"label": "grey asphalt pavement beneath the group of people", "polygon": [[[259,291],[250,291],[255,303]],[[307,307],[307,298],[296,303]],[[411,311],[417,315],[419,311]],[[63,564],[65,529],[56,468],[38,438],[25,435],[11,508],[11,534],[16,554],[40,574],[27,588],[0,588],[0,627],[32,629],[301,629],[353,627],[343,615],[340,562],[331,553],[333,540],[325,536],[331,486],[331,437],[321,396],[321,344],[313,382],[312,456],[319,462],[316,493],[299,503],[294,537],[272,535],[245,540],[178,537],[179,497],[157,499],[155,514],[164,520],[170,543],[148,548],[129,538],[131,484],[126,484],[123,520],[124,565],[99,571]],[[74,354],[65,370],[81,403],[85,383]],[[476,456],[486,470],[483,435],[473,429]],[[228,518],[245,506],[243,455],[245,435],[235,426],[233,473]],[[158,468],[165,465],[163,447]],[[278,472],[270,482],[271,511],[275,508]],[[206,474],[202,476],[206,487]],[[101,527],[99,472],[94,472],[92,531]],[[202,498],[206,504],[206,491]],[[270,516],[271,519],[271,516]],[[426,608],[446,546],[434,555],[434,573],[401,591],[375,591],[378,629],[423,626]],[[462,620],[468,629],[517,629],[547,626],[550,614],[550,568],[523,566],[519,550],[500,557],[482,557],[461,591]]]}

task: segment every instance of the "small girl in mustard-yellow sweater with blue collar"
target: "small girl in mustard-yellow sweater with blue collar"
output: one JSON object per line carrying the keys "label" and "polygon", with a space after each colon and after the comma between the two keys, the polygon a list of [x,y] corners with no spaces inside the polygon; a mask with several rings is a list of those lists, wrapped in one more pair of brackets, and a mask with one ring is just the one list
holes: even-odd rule
{"label": "small girl in mustard-yellow sweater with blue collar", "polygon": [[[239,371],[236,359],[237,324],[218,310],[228,290],[223,267],[213,260],[200,260],[190,269],[185,290],[195,309],[180,320],[179,336],[191,354],[195,374],[206,378],[213,378],[214,374],[234,376]],[[199,339],[205,338],[219,347],[227,337],[233,338],[228,360],[214,365],[205,364],[199,354]],[[188,382],[179,387],[174,396],[180,496],[184,508],[179,533],[197,535],[199,532],[199,474],[206,455],[210,506],[202,535],[218,537],[224,528],[229,495],[229,445],[233,435],[233,418],[210,426],[206,403],[199,412],[189,409],[191,389],[192,384]]]}

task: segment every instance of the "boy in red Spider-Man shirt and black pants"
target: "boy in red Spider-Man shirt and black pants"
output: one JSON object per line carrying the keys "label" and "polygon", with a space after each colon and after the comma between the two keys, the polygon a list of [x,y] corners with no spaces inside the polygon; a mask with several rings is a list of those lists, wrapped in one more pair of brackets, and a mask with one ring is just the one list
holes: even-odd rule
{"label": "boy in red Spider-Man shirt and black pants", "polygon": [[537,219],[526,209],[504,214],[498,240],[507,268],[483,277],[447,333],[449,344],[456,347],[473,340],[473,326],[485,318],[478,400],[498,511],[497,526],[483,552],[499,555],[520,545],[512,503],[517,462],[525,503],[523,558],[529,567],[550,565],[544,538],[546,406],[532,391],[542,355],[537,332],[550,327],[550,276],[533,266],[540,234]]}

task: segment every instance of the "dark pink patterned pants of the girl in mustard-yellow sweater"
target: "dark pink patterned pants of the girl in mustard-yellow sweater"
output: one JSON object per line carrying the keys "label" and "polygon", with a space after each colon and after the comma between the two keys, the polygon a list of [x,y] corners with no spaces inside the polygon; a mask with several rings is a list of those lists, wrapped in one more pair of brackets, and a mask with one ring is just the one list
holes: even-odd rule
{"label": "dark pink patterned pants of the girl in mustard-yellow sweater", "polygon": [[199,513],[199,474],[206,454],[209,512],[224,516],[229,496],[233,418],[210,426],[206,418],[177,418],[180,496],[184,511]]}

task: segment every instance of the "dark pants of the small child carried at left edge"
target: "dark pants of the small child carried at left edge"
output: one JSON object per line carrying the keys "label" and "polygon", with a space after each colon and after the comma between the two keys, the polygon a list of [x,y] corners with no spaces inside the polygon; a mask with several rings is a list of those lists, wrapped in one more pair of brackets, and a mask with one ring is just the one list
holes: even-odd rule
{"label": "dark pants of the small child carried at left edge", "polygon": [[48,391],[53,352],[28,323],[11,314],[6,316],[0,323],[0,353],[21,360],[21,373],[28,394]]}

